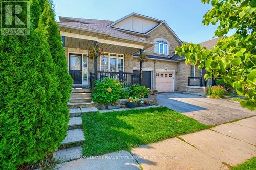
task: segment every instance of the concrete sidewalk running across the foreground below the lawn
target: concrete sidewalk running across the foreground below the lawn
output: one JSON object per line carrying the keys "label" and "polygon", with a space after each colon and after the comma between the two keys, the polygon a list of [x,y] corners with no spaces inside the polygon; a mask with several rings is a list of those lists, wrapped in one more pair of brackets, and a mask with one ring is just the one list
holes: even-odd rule
{"label": "concrete sidewalk running across the foreground below the lawn", "polygon": [[55,169],[229,169],[256,156],[256,117],[158,143],[58,164]]}

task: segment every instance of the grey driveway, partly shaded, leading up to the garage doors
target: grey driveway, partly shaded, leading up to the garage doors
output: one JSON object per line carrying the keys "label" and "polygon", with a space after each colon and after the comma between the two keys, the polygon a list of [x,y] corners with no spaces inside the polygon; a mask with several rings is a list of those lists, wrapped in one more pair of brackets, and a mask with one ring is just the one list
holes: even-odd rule
{"label": "grey driveway, partly shaded, leading up to the garage doors", "polygon": [[207,125],[222,124],[256,115],[256,111],[244,109],[236,102],[186,93],[158,94],[157,103]]}

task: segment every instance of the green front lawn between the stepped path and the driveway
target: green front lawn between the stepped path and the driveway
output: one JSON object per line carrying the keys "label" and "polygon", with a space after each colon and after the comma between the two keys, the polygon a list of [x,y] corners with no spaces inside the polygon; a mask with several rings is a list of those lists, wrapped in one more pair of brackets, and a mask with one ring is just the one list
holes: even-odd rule
{"label": "green front lawn between the stepped path and the driveway", "polygon": [[82,115],[84,156],[128,150],[209,128],[166,107]]}

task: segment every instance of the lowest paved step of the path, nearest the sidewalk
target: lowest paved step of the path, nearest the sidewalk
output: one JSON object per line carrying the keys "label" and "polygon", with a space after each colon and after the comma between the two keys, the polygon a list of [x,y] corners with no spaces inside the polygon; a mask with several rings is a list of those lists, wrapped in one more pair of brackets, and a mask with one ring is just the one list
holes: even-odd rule
{"label": "lowest paved step of the path, nearest the sidewalk", "polygon": [[58,159],[59,161],[71,161],[78,159],[82,156],[82,147],[71,147],[58,150],[54,152],[53,157]]}

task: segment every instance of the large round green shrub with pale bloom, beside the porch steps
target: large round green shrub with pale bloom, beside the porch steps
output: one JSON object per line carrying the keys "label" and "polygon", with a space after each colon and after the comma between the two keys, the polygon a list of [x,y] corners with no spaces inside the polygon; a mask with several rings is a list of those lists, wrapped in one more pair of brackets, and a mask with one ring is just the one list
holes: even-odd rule
{"label": "large round green shrub with pale bloom, beside the porch steps", "polygon": [[92,94],[93,101],[100,104],[113,104],[121,97],[122,83],[113,78],[104,78],[102,82],[96,80]]}

